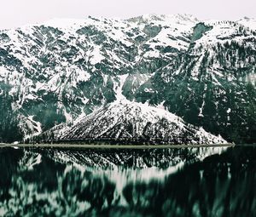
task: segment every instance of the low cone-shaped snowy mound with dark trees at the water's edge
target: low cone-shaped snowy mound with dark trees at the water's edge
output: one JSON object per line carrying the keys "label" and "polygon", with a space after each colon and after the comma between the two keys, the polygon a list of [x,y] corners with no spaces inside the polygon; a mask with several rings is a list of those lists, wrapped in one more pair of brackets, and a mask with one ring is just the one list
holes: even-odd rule
{"label": "low cone-shaped snowy mound with dark trees at the water's edge", "polygon": [[163,108],[156,108],[129,100],[119,100],[80,119],[71,127],[64,124],[46,133],[55,140],[113,140],[125,143],[152,144],[220,144],[220,136],[207,133],[184,123],[182,118]]}

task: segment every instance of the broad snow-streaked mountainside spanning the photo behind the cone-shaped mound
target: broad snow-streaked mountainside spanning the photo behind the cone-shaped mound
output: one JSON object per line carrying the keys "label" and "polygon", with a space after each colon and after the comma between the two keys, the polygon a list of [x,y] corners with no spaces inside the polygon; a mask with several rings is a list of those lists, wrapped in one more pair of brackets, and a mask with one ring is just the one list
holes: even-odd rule
{"label": "broad snow-streaked mountainside spanning the photo behind the cone-shaped mound", "polygon": [[146,14],[0,31],[0,140],[71,125],[124,95],[226,140],[255,141],[254,24]]}

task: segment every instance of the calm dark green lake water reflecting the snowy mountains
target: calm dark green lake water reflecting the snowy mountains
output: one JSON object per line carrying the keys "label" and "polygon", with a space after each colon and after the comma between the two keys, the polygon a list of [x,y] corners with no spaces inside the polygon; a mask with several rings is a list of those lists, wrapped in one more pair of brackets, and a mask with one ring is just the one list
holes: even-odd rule
{"label": "calm dark green lake water reflecting the snowy mountains", "polygon": [[256,148],[0,149],[0,216],[256,216]]}

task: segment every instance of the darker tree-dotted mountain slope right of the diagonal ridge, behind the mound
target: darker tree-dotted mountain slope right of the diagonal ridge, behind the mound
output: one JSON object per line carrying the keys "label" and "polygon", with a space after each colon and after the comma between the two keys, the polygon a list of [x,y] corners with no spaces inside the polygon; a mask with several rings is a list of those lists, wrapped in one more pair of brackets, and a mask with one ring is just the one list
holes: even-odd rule
{"label": "darker tree-dotted mountain slope right of the diagonal ridge, behind the mound", "polygon": [[203,33],[150,77],[135,98],[164,102],[185,121],[227,140],[255,142],[255,31],[228,21],[208,21],[194,30]]}

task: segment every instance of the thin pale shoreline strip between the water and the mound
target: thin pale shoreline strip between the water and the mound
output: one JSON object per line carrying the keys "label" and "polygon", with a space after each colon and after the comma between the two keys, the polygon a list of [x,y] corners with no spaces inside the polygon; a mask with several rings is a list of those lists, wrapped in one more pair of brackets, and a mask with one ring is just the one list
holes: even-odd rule
{"label": "thin pale shoreline strip between the water and the mound", "polygon": [[81,144],[0,144],[0,148],[13,147],[13,148],[80,148],[80,149],[157,149],[157,148],[187,148],[187,147],[232,147],[236,146],[232,143],[226,144],[201,144],[201,145],[81,145]]}

